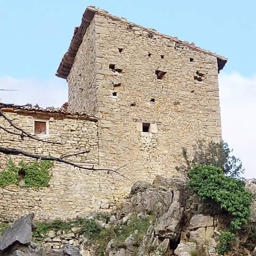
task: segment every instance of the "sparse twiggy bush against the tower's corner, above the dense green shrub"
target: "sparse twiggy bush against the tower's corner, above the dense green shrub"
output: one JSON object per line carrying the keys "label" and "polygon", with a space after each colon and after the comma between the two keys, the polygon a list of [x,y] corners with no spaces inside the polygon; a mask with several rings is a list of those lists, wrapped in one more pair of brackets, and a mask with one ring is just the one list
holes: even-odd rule
{"label": "sparse twiggy bush against the tower's corner, above the dense green shrub", "polygon": [[193,146],[192,159],[190,159],[187,149],[183,147],[182,155],[185,165],[176,167],[176,169],[187,173],[199,164],[213,165],[221,168],[227,176],[240,178],[240,175],[244,173],[244,169],[240,159],[231,155],[232,151],[233,149],[230,149],[226,142],[210,142],[207,144],[205,141],[199,140]]}

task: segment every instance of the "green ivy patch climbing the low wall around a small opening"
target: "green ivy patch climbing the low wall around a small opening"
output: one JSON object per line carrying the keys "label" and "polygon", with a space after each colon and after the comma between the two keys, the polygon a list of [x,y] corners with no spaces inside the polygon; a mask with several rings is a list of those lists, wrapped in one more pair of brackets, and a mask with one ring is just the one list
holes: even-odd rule
{"label": "green ivy patch climbing the low wall around a small opening", "polygon": [[51,179],[51,161],[33,161],[30,163],[19,162],[15,165],[11,159],[8,160],[6,170],[0,171],[0,187],[4,188],[10,184],[18,185],[19,172],[24,174],[24,187],[38,188],[47,187]]}

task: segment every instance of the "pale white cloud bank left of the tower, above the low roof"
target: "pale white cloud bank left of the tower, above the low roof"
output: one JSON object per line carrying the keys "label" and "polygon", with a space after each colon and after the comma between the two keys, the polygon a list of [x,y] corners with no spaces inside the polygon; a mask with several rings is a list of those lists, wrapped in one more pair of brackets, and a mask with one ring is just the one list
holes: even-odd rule
{"label": "pale white cloud bank left of the tower, above the low roof", "polygon": [[4,103],[37,103],[40,107],[61,107],[68,97],[67,82],[57,77],[42,81],[0,77],[0,89],[18,90],[0,91],[0,101]]}

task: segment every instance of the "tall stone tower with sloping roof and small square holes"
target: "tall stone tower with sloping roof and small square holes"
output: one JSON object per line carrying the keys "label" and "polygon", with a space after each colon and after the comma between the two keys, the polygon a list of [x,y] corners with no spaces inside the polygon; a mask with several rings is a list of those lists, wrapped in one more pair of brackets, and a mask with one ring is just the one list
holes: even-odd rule
{"label": "tall stone tower with sloping roof and small square holes", "polygon": [[[135,180],[175,174],[183,146],[221,138],[218,73],[227,59],[88,7],[56,75],[69,110],[98,116],[101,167]],[[119,180],[117,186],[124,186]]]}

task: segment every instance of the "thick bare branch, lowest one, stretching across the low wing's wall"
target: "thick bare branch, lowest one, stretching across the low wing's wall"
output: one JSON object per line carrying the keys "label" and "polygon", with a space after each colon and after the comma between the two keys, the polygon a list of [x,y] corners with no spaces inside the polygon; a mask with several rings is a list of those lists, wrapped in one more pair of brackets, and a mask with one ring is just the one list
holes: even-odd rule
{"label": "thick bare branch, lowest one, stretching across the low wing's wall", "polygon": [[72,165],[74,167],[78,167],[80,169],[85,169],[85,170],[91,170],[91,171],[106,171],[106,172],[112,172],[112,173],[115,173],[115,174],[118,174],[120,176],[122,176],[123,178],[127,179],[128,178],[126,176],[124,176],[123,174],[119,174],[118,170],[123,168],[125,165],[119,167],[118,169],[116,170],[112,170],[112,169],[95,169],[94,168],[94,165],[92,165],[92,167],[84,167],[84,166],[81,166],[81,165],[77,165],[77,164],[74,164],[72,162],[69,162],[69,161],[66,161],[62,158],[59,158],[59,157],[54,157],[54,156],[44,156],[44,155],[35,155],[35,154],[30,154],[26,151],[23,151],[21,149],[17,149],[17,148],[10,148],[10,147],[1,147],[0,146],[0,153],[3,153],[5,155],[24,155],[24,156],[27,156],[27,157],[31,157],[31,158],[34,158],[34,159],[39,159],[39,160],[45,160],[45,161],[56,161],[56,162],[60,162],[60,163],[64,163],[64,164],[67,164],[67,165]]}

